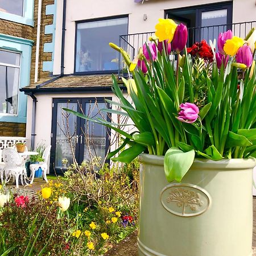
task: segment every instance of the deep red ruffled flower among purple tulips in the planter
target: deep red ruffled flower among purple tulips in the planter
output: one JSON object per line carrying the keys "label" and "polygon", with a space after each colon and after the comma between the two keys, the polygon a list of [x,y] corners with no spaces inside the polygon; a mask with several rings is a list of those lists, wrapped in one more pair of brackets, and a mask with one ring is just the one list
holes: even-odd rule
{"label": "deep red ruffled flower among purple tulips in the planter", "polygon": [[199,56],[205,61],[213,61],[213,52],[212,49],[208,46],[205,40],[201,40],[200,43],[196,42],[192,47],[187,48],[187,52],[192,56]]}

